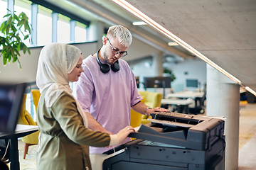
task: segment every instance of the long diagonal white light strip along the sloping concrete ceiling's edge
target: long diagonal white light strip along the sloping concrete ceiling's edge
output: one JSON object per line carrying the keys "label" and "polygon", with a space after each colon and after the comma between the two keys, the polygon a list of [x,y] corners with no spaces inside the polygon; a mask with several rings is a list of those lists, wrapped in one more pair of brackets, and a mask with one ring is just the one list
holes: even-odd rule
{"label": "long diagonal white light strip along the sloping concrete ceiling's edge", "polygon": [[151,18],[149,18],[148,16],[146,16],[144,13],[142,13],[142,11],[139,11],[137,8],[135,8],[134,6],[129,4],[127,1],[124,1],[124,0],[112,0],[112,1],[114,1],[116,4],[119,4],[119,6],[122,6],[127,11],[129,11],[130,13],[134,14],[134,16],[137,16],[138,18],[142,19],[142,21],[149,24],[150,26],[152,26],[156,30],[159,30],[160,33],[166,35],[171,40],[174,40],[174,42],[177,42],[178,45],[181,45],[186,50],[191,52],[193,55],[196,55],[197,57],[201,58],[201,60],[207,62],[212,67],[217,69],[219,72],[225,74],[225,76],[227,76],[230,79],[232,79],[233,81],[235,81],[235,83],[241,84],[241,81],[239,79],[235,78],[233,75],[231,75],[230,73],[228,73],[227,71],[225,71],[224,69],[219,67],[217,64],[215,64],[214,62],[209,60],[206,56],[201,54],[201,52],[198,52],[196,49],[191,47],[191,45],[188,45],[186,42],[184,42],[183,40],[178,38],[176,35],[171,33],[169,30],[166,30],[166,28],[164,28],[163,26],[160,26],[159,23],[156,23],[156,21],[154,21]]}

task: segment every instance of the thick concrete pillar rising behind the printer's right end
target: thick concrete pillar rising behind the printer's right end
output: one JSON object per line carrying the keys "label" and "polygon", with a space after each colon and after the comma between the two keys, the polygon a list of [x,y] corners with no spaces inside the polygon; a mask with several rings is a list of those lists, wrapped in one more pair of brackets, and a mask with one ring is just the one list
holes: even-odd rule
{"label": "thick concrete pillar rising behind the printer's right end", "polygon": [[238,169],[240,86],[207,64],[206,115],[225,116],[225,170]]}

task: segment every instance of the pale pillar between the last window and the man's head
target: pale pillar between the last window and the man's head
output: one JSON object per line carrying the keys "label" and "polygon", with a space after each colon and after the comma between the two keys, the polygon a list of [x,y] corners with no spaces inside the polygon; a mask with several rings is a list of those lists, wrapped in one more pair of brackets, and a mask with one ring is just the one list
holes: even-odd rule
{"label": "pale pillar between the last window and the man's head", "polygon": [[86,31],[88,41],[97,41],[97,50],[102,47],[102,37],[104,35],[104,23],[101,21],[92,21]]}

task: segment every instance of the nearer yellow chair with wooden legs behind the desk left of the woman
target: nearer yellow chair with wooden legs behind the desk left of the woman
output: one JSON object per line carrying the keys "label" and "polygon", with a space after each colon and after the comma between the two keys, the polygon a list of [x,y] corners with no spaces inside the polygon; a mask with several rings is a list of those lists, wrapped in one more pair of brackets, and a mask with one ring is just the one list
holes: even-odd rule
{"label": "nearer yellow chair with wooden legs behind the desk left of the woman", "polygon": [[[33,121],[31,114],[28,113],[28,111],[26,111],[26,94],[23,95],[21,111],[20,111],[20,114],[18,115],[18,124],[37,125],[37,123]],[[21,137],[22,142],[25,143],[23,159],[26,159],[26,154],[28,153],[28,147],[31,145],[38,144],[38,135],[39,135],[39,131],[33,132],[32,134],[26,135],[25,137]]]}

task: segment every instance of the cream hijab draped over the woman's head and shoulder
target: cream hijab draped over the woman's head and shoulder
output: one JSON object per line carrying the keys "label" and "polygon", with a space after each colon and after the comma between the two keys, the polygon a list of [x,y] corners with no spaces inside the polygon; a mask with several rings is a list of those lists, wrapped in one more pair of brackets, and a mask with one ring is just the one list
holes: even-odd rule
{"label": "cream hijab draped over the woman's head and shoulder", "polygon": [[[36,72],[36,85],[40,93],[49,87],[45,96],[47,107],[53,106],[53,103],[63,91],[73,96],[68,74],[78,64],[81,53],[78,47],[60,43],[51,43],[41,50]],[[77,103],[78,111],[83,118],[85,127],[87,127],[87,118],[82,106],[74,96],[73,98]]]}

